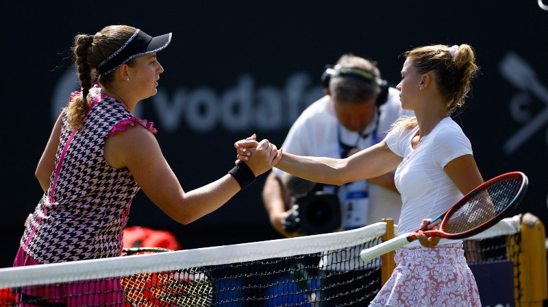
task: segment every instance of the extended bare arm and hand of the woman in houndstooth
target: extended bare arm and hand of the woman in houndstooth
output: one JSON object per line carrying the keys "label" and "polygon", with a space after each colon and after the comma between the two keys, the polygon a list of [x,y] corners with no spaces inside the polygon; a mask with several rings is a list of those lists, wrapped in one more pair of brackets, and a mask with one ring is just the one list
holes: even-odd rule
{"label": "extended bare arm and hand of the woman in houndstooth", "polygon": [[[215,146],[210,144],[201,150],[214,151]],[[196,161],[208,164],[208,161],[201,160],[199,151],[192,152],[197,155]],[[112,167],[127,167],[145,195],[179,223],[187,224],[213,212],[241,190],[236,179],[225,173],[210,184],[184,191],[155,136],[141,125],[128,125],[127,130],[109,136],[105,142],[105,159]],[[260,175],[271,169],[278,160],[276,148],[265,140],[258,144],[258,152],[253,153],[253,159],[247,165],[255,175]],[[192,177],[192,174],[187,175]]]}

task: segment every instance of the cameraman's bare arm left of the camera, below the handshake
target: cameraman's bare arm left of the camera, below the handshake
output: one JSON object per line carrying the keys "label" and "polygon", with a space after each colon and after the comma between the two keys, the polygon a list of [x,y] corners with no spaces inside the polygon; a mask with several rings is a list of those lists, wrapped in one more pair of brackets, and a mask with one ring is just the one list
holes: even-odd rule
{"label": "cameraman's bare arm left of the camera, below the handshake", "polygon": [[273,171],[269,173],[264,182],[262,201],[266,213],[269,214],[270,223],[277,232],[286,238],[298,236],[296,233],[289,234],[282,226],[282,221],[286,219],[289,214],[288,210],[291,207],[291,197],[288,189],[282,183],[282,180],[279,180]]}

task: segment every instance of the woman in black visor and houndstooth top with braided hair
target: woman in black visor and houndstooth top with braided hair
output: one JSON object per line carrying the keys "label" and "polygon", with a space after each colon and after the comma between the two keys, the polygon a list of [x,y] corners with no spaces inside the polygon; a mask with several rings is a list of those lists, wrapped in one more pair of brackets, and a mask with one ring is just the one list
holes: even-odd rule
{"label": "woman in black visor and houndstooth top with braided hair", "polygon": [[[153,123],[133,115],[138,101],[156,94],[164,71],[157,52],[170,42],[171,33],[151,37],[125,25],[75,36],[82,91],[71,95],[38,163],[36,177],[45,193],[27,218],[14,266],[120,256],[129,206],[140,189],[186,224],[223,206],[275,164],[276,148],[264,141],[247,164],[184,191],[162,155]],[[88,295],[90,305],[125,301],[116,297],[122,295],[116,280],[88,286],[99,291]],[[23,288],[21,306],[86,304],[79,293],[86,286],[63,287],[55,293],[64,297]]]}

